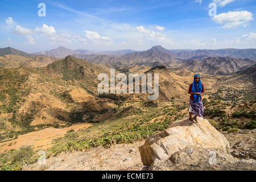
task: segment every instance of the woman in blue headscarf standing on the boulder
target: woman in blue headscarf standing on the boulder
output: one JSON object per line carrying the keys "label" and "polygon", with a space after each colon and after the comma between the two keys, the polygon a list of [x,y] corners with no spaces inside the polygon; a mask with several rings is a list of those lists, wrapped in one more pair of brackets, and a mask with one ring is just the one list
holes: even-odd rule
{"label": "woman in blue headscarf standing on the boulder", "polygon": [[[201,79],[199,75],[194,76],[194,81],[191,85],[189,85],[188,93],[191,94],[189,99],[189,119],[193,122],[193,119],[198,122],[199,117],[203,117],[204,115],[204,105],[202,102],[202,96],[204,94],[204,85],[201,83]],[[195,115],[194,118],[192,118],[192,114]]]}

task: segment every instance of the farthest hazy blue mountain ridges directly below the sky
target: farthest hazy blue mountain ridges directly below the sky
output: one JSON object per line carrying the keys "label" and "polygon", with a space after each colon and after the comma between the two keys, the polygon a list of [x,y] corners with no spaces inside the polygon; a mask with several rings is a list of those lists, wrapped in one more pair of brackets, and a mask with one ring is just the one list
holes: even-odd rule
{"label": "farthest hazy blue mountain ridges directly below the sky", "polygon": [[50,51],[40,51],[36,53],[32,53],[32,55],[46,55],[46,56],[54,56],[54,57],[66,57],[68,55],[75,54],[85,54],[85,55],[112,55],[112,56],[123,56],[127,54],[131,54],[130,57],[135,56],[137,53],[143,54],[144,52],[148,52],[152,49],[157,49],[162,53],[172,56],[174,59],[196,59],[203,60],[207,57],[236,57],[236,58],[248,58],[248,59],[256,59],[256,49],[165,49],[162,46],[154,46],[147,51],[134,51],[131,49],[123,49],[118,51],[95,51],[89,49],[68,49],[65,47],[59,47],[56,49],[52,49]]}

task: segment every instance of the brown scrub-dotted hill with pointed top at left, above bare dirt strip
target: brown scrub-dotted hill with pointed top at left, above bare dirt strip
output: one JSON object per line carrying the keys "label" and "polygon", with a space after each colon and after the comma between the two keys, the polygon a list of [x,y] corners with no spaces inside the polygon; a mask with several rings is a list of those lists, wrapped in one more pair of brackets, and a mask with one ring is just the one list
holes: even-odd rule
{"label": "brown scrub-dotted hill with pointed top at left, above bare dirt strip", "polygon": [[107,71],[71,56],[44,68],[0,69],[0,141],[84,117],[100,121],[102,110],[116,107],[114,100],[96,97],[96,74]]}

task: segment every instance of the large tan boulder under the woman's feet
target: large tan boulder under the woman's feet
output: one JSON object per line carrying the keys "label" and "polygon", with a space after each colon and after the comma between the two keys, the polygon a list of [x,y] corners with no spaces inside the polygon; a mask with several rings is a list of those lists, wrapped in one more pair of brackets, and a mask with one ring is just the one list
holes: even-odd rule
{"label": "large tan boulder under the woman's feet", "polygon": [[218,132],[207,119],[192,123],[188,118],[175,121],[166,130],[147,138],[139,147],[144,166],[152,169],[157,163],[166,162],[184,148],[218,150],[230,155],[228,140]]}

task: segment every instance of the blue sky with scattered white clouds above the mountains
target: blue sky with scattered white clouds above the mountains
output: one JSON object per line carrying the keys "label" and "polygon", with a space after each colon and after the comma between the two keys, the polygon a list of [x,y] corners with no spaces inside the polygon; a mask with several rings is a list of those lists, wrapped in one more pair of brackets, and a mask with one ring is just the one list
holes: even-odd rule
{"label": "blue sky with scattered white clouds above the mountains", "polygon": [[1,0],[0,48],[256,48],[255,14],[255,0]]}

